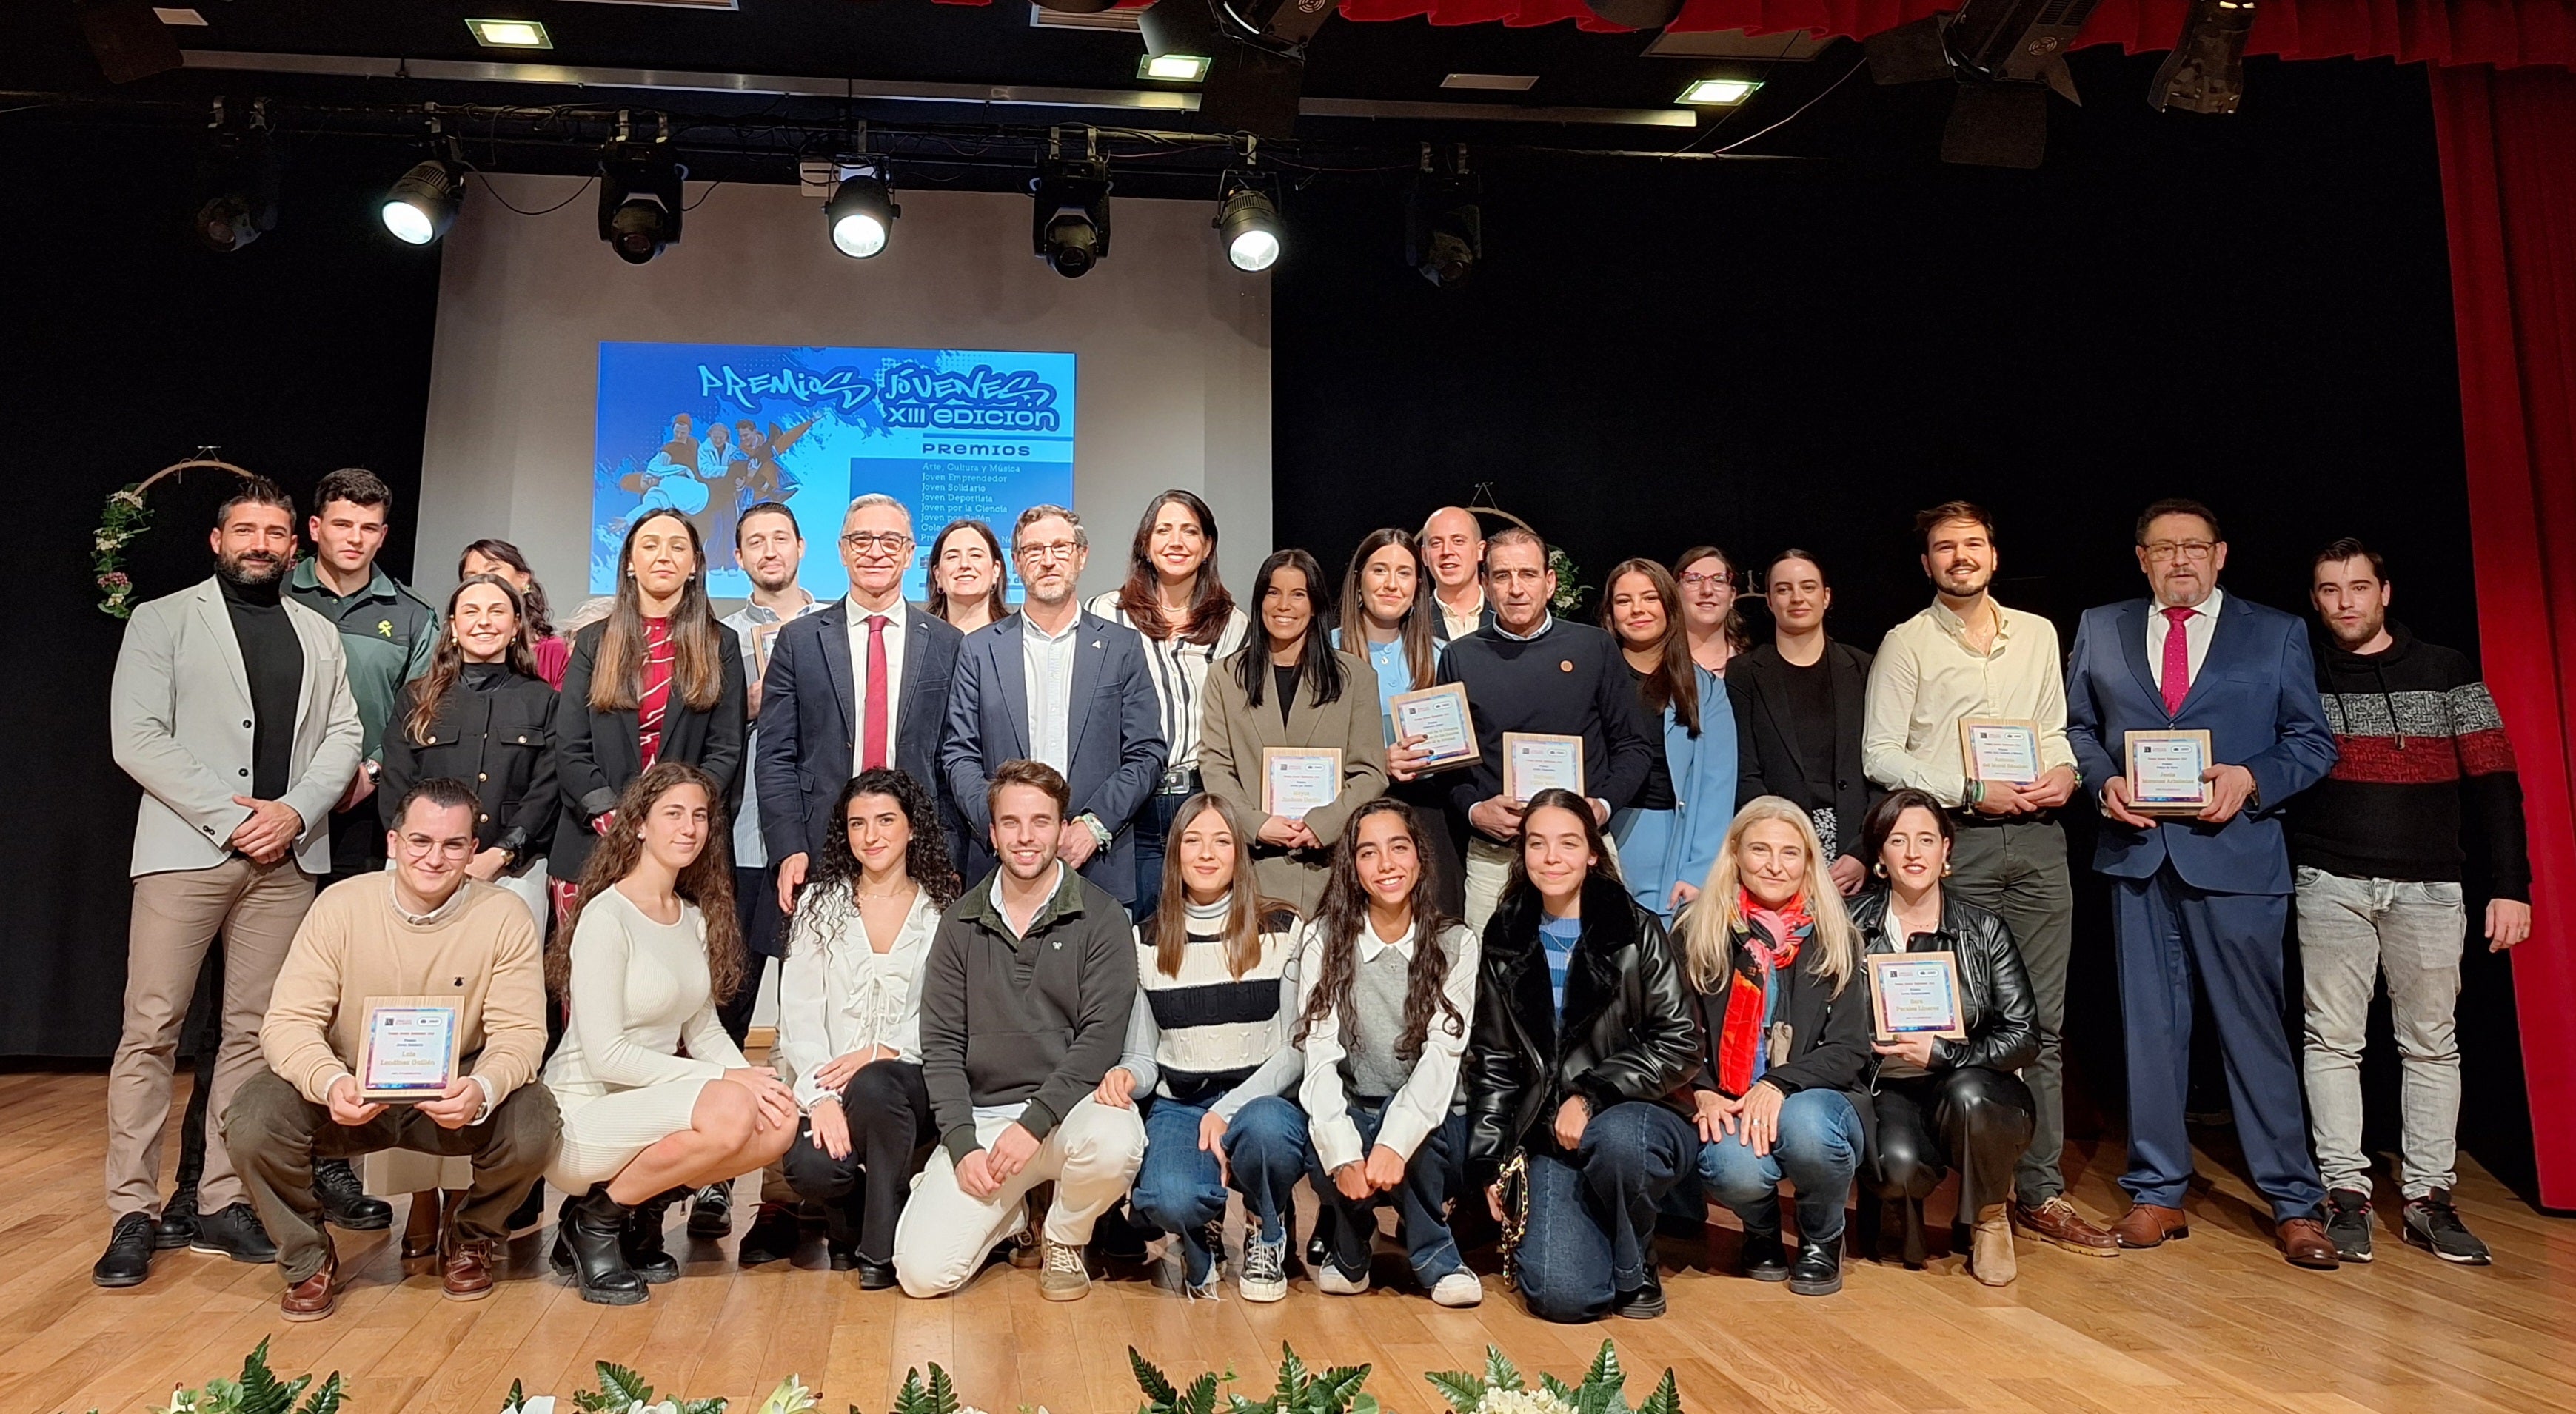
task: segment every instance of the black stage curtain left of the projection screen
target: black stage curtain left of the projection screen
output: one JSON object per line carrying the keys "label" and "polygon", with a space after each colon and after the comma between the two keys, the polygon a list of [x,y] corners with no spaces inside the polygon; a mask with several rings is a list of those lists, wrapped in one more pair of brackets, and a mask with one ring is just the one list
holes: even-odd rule
{"label": "black stage curtain left of the projection screen", "polygon": [[[121,623],[98,610],[90,536],[108,492],[214,443],[309,513],[335,466],[394,489],[384,564],[407,577],[430,389],[438,255],[374,224],[384,152],[291,152],[276,232],[216,255],[188,234],[180,131],[28,118],[0,129],[18,193],[0,234],[0,399],[23,520],[5,616],[13,824],[0,850],[0,1056],[106,1056],[126,976],[137,786],[108,760]],[[399,167],[399,165],[397,165]],[[137,598],[211,572],[227,474],[155,487]]]}

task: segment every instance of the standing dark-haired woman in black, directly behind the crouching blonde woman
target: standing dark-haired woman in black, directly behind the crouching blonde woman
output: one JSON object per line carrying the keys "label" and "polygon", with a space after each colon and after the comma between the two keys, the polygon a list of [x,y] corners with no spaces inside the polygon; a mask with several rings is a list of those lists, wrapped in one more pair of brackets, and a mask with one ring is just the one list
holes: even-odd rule
{"label": "standing dark-haired woman in black, directly behind the crouching blonde woman", "polygon": [[1870,778],[1860,770],[1860,724],[1870,693],[1870,654],[1824,636],[1834,587],[1816,556],[1790,549],[1762,569],[1772,641],[1726,667],[1736,706],[1736,798],[1780,796],[1808,814],[1824,842],[1834,889],[1868,881],[1860,822]]}

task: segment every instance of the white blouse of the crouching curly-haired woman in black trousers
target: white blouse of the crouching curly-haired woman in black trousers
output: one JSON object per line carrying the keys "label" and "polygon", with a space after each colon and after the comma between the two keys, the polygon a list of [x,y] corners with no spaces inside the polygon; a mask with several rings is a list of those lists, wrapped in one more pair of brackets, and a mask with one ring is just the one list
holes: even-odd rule
{"label": "white blouse of the crouching curly-haired woman in black trousers", "polygon": [[917,891],[894,945],[878,953],[868,945],[850,886],[799,901],[778,968],[778,1061],[796,1077],[799,1105],[840,1097],[817,1079],[835,1056],[886,1046],[896,1059],[920,1064],[922,963],[938,925],[930,891]]}

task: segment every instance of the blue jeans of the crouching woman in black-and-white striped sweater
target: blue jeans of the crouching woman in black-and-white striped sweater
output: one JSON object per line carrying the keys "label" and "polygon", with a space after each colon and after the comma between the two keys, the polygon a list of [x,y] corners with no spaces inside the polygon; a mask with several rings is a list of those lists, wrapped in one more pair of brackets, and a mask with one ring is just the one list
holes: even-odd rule
{"label": "blue jeans of the crouching woman in black-and-white striped sweater", "polygon": [[[1216,1252],[1203,1231],[1226,1216],[1226,1182],[1216,1177],[1216,1154],[1198,1146],[1206,1105],[1151,1097],[1144,1102],[1144,1167],[1128,1192],[1136,1221],[1180,1236],[1190,1285],[1206,1285],[1216,1272]],[[1296,1180],[1306,1174],[1306,1110],[1293,1100],[1262,1095],[1234,1113],[1226,1126],[1226,1167],[1244,1213],[1260,1223],[1262,1241],[1288,1236],[1296,1213]]]}

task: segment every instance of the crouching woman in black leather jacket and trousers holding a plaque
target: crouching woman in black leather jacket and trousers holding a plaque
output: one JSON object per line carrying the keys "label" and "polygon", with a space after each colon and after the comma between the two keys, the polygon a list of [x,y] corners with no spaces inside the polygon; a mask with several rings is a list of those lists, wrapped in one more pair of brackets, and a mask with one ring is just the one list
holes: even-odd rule
{"label": "crouching woman in black leather jacket and trousers holding a plaque", "polygon": [[[2004,919],[1950,896],[1950,816],[1922,791],[1893,791],[1862,822],[1862,853],[1883,889],[1852,901],[1865,953],[1953,953],[1965,1041],[1904,1035],[1878,1043],[1878,1141],[1862,1190],[1904,1211],[1904,1262],[1924,1265],[1924,1198],[1958,1167],[1958,1211],[1973,1216],[1968,1270],[2007,1285],[2012,1164],[2030,1146],[2035,1105],[2014,1071],[2040,1048],[2030,976]],[[1875,1208],[1875,1203],[1868,1203]],[[1873,1213],[1862,1231],[1875,1236]]]}

